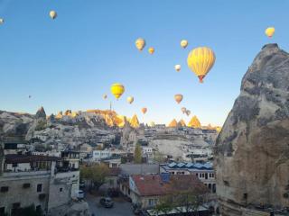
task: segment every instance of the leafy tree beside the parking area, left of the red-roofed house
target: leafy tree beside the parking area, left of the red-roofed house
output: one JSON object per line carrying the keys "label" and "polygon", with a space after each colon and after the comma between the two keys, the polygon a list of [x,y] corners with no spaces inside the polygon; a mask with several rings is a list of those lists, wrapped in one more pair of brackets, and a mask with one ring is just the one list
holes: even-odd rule
{"label": "leafy tree beside the parking area, left of the red-roofed house", "polygon": [[80,178],[90,181],[90,189],[98,188],[106,183],[106,177],[109,174],[109,168],[105,164],[96,164],[93,166],[80,166]]}

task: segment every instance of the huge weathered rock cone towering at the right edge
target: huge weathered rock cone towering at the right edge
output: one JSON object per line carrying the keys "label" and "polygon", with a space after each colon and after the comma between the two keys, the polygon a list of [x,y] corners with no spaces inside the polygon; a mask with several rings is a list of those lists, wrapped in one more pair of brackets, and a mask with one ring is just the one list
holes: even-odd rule
{"label": "huge weathered rock cone towering at the right edge", "polygon": [[215,148],[221,213],[289,206],[289,54],[266,45],[243,77]]}

